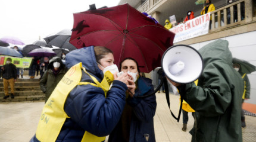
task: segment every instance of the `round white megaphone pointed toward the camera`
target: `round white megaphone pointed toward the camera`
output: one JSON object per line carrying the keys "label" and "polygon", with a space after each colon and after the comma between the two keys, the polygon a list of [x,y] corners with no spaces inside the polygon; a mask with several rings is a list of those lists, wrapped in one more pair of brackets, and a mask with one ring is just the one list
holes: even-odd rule
{"label": "round white megaphone pointed toward the camera", "polygon": [[191,83],[201,75],[204,63],[196,49],[180,44],[164,52],[161,64],[168,79],[176,83]]}

